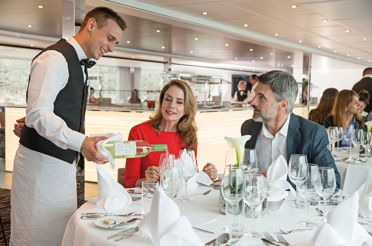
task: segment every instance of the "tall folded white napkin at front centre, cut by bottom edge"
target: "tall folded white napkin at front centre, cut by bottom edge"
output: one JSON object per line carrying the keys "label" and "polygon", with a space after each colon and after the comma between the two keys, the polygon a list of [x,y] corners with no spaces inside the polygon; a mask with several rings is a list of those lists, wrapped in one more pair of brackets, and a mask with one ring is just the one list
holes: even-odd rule
{"label": "tall folded white napkin at front centre, cut by bottom edge", "polygon": [[161,189],[155,191],[150,215],[145,216],[138,228],[146,234],[153,245],[204,246],[192,229],[189,219],[180,216],[178,206]]}

